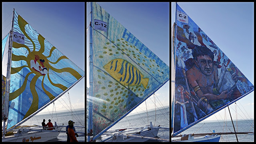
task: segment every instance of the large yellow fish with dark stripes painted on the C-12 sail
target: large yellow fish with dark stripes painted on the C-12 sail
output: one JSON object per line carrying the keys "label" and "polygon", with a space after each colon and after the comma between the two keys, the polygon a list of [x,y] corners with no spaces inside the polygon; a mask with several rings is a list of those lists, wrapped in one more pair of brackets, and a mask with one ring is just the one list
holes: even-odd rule
{"label": "large yellow fish with dark stripes painted on the C-12 sail", "polygon": [[125,86],[142,86],[146,89],[149,78],[144,78],[144,75],[130,62],[121,58],[111,60],[103,66],[103,68],[115,80]]}

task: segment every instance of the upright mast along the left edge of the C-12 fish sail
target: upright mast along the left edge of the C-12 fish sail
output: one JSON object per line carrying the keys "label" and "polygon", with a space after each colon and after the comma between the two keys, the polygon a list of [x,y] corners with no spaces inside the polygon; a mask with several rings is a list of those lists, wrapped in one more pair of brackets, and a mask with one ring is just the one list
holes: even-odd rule
{"label": "upright mast along the left edge of the C-12 fish sail", "polygon": [[88,142],[90,142],[90,136],[92,136],[92,98],[93,98],[93,51],[92,51],[92,2],[91,2],[91,22],[90,22],[90,74],[89,74],[89,121],[88,121]]}

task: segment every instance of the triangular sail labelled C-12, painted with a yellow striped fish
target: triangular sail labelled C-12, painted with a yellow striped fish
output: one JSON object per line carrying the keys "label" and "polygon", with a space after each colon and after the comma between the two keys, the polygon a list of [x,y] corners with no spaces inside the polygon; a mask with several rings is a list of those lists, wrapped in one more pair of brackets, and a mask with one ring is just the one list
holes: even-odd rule
{"label": "triangular sail labelled C-12, painted with a yellow striped fish", "polygon": [[160,58],[97,3],[93,22],[93,134],[110,126],[169,80]]}

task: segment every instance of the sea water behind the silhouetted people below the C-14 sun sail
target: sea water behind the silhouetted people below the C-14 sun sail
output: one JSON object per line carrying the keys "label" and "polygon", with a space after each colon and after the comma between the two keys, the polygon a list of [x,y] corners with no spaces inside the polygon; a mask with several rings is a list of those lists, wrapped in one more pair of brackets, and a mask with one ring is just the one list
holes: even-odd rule
{"label": "sea water behind the silhouetted people below the C-14 sun sail", "polygon": [[[69,120],[73,120],[75,122],[74,126],[83,126],[83,128],[76,128],[76,132],[85,132],[85,111],[84,110],[73,110],[73,118],[70,112],[60,112],[60,113],[51,113],[51,114],[43,114],[43,115],[35,115],[23,124],[22,126],[31,126],[31,125],[39,125],[42,126],[43,119],[45,119],[45,124],[48,123],[50,119],[52,124],[57,122],[59,126],[67,126]],[[66,127],[62,129],[66,131]],[[80,135],[80,134],[78,134]],[[78,142],[85,142],[85,136],[77,137]],[[67,134],[65,132],[61,132],[57,138],[49,140],[48,142],[66,142],[67,141]]]}

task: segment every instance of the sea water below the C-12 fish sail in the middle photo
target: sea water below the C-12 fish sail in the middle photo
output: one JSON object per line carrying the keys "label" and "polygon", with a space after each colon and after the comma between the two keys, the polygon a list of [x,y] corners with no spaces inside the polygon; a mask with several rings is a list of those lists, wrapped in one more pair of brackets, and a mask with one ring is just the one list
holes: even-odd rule
{"label": "sea water below the C-12 fish sail in the middle photo", "polygon": [[[146,113],[146,110],[144,110],[144,113],[140,114],[134,114],[131,116],[126,116],[122,120],[120,120],[118,123],[116,123],[112,128],[108,130],[116,130],[116,129],[124,129],[124,128],[140,128],[144,127],[146,125],[149,125],[149,122],[152,122],[153,126],[159,126],[162,128],[170,128],[170,110],[169,108],[163,108],[152,110]],[[129,129],[131,130],[131,129]],[[139,132],[142,129],[135,129],[132,131],[127,132],[133,133],[133,132]],[[159,129],[157,136],[159,138],[168,139],[170,140],[170,129]],[[96,139],[96,142],[100,142],[110,136],[100,136],[98,139]],[[148,140],[147,142],[153,142],[155,140]]]}

